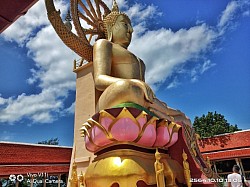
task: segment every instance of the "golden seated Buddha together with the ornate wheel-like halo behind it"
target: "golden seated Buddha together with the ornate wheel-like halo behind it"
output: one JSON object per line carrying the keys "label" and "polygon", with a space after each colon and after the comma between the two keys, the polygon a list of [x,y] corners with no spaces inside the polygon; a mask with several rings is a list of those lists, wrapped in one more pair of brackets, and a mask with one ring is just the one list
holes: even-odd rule
{"label": "golden seated Buddha together with the ornate wheel-like halo behind it", "polygon": [[[87,3],[90,10],[82,1],[72,2],[73,22],[78,36],[62,23],[60,11],[55,11],[53,0],[45,1],[48,18],[62,41],[83,59],[93,62],[95,86],[103,92],[96,110],[121,103],[135,103],[152,111],[159,118],[191,125],[184,113],[158,100],[145,83],[144,62],[127,50],[133,33],[130,19],[119,11],[116,1],[113,0],[112,10],[102,0],[95,1],[96,10],[89,0]],[[103,11],[100,10],[101,7]],[[81,9],[85,14],[79,12]],[[92,28],[83,28],[79,17]],[[87,34],[90,34],[89,39]],[[94,46],[90,43],[93,35],[97,35]]]}

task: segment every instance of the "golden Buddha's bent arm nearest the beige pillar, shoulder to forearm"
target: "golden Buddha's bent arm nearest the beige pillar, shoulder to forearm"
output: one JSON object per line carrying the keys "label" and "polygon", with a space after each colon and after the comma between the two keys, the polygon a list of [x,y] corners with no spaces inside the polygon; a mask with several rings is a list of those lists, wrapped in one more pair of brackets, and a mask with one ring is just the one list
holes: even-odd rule
{"label": "golden Buddha's bent arm nearest the beige pillar, shoulder to forearm", "polygon": [[112,44],[107,40],[98,40],[94,44],[93,54],[94,80],[96,89],[104,91],[112,83],[122,80],[112,77]]}

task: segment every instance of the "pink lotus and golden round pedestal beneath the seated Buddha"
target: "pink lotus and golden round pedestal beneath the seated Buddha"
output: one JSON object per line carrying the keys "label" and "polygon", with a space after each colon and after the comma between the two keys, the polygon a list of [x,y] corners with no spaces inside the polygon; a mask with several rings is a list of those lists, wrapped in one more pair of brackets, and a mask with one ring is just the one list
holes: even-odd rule
{"label": "pink lotus and golden round pedestal beneath the seated Buddha", "polygon": [[84,174],[72,172],[70,187],[211,186],[192,184],[191,179],[216,178],[190,126],[142,109],[100,111],[83,124],[81,133],[86,148],[97,157]]}

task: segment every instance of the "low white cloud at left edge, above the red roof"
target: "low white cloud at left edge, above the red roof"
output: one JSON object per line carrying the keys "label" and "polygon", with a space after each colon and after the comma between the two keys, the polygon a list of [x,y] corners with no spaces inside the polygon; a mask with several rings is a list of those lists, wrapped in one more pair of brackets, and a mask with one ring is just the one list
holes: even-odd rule
{"label": "low white cloud at left edge, above the red roof", "polygon": [[52,122],[53,112],[58,112],[63,107],[62,101],[56,99],[57,93],[54,92],[53,89],[47,89],[37,95],[21,94],[17,98],[9,98],[7,107],[0,106],[0,122],[16,122],[22,118],[41,123]]}

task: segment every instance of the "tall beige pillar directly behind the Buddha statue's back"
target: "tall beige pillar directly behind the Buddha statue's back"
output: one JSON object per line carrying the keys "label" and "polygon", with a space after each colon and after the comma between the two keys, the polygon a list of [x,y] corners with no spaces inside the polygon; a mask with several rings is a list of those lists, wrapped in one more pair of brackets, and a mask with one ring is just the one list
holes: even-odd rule
{"label": "tall beige pillar directly behind the Buddha statue's back", "polygon": [[[93,80],[92,63],[85,64],[74,70],[76,73],[76,100],[74,122],[74,145],[71,156],[69,179],[71,179],[72,164],[75,162],[78,175],[85,172],[94,157],[86,150],[84,138],[80,135],[82,124],[95,113],[96,91]],[[68,181],[70,182],[70,180]]]}

